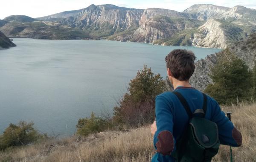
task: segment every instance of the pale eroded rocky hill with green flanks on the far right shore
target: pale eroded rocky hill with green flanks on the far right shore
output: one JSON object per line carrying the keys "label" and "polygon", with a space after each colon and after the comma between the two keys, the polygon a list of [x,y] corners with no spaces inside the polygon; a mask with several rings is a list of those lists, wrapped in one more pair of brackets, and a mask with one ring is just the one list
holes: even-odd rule
{"label": "pale eroded rocky hill with green flanks on the far right shore", "polygon": [[190,29],[175,33],[171,38],[156,40],[154,43],[167,46],[226,48],[230,43],[247,37],[247,32],[243,28],[244,26],[226,21],[208,19],[199,27],[191,26]]}

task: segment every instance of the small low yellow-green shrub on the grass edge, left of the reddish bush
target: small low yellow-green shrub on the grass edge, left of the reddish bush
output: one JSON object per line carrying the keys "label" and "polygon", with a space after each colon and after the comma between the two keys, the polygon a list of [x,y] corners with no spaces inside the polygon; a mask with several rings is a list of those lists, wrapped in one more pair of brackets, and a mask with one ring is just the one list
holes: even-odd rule
{"label": "small low yellow-green shrub on the grass edge, left of the reddish bush", "polygon": [[77,134],[80,136],[87,136],[90,133],[97,133],[105,130],[107,121],[100,117],[96,117],[94,113],[90,118],[83,118],[78,120],[76,124]]}

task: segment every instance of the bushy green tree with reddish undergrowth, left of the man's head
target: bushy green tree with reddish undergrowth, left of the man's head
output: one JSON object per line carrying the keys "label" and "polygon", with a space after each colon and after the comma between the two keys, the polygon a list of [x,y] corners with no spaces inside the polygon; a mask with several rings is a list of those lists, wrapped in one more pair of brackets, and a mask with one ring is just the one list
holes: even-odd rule
{"label": "bushy green tree with reddish undergrowth, left of the man's head", "polygon": [[154,120],[155,97],[166,91],[166,83],[160,74],[154,74],[144,65],[131,80],[128,92],[114,107],[115,123],[138,126]]}

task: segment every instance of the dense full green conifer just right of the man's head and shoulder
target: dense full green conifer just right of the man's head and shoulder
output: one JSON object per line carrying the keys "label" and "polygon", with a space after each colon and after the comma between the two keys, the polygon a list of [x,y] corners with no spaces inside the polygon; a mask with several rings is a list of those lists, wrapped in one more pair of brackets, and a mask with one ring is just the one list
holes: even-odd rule
{"label": "dense full green conifer just right of the man's head and shoulder", "polygon": [[218,53],[218,61],[211,69],[213,84],[209,84],[206,93],[215,98],[219,104],[236,103],[247,100],[251,72],[244,61],[237,58],[229,49]]}

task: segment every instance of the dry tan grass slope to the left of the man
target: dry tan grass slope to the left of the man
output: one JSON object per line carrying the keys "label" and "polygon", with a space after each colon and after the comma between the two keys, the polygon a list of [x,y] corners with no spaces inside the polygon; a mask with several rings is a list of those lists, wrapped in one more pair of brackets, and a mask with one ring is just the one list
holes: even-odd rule
{"label": "dry tan grass slope to the left of the man", "polygon": [[99,133],[87,138],[70,137],[12,149],[0,153],[0,161],[146,162],[151,159],[153,151],[150,129],[143,127],[128,132]]}

